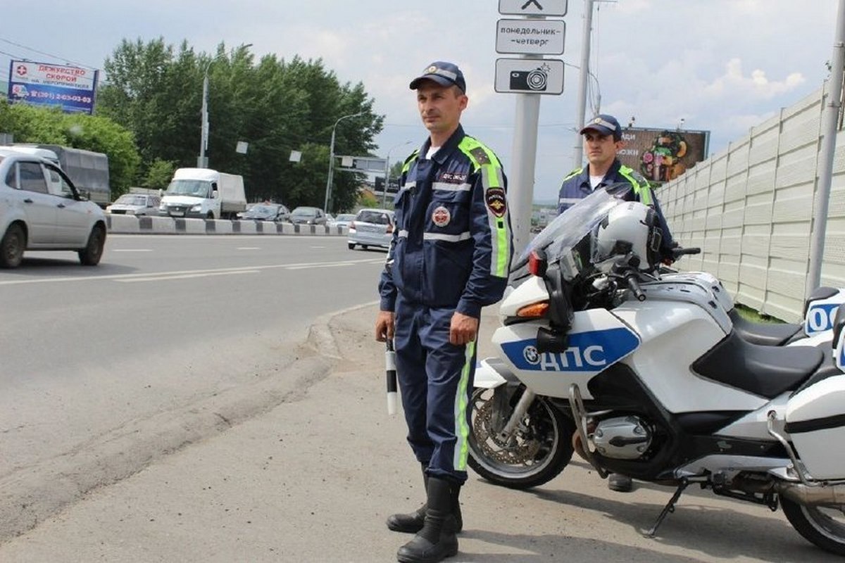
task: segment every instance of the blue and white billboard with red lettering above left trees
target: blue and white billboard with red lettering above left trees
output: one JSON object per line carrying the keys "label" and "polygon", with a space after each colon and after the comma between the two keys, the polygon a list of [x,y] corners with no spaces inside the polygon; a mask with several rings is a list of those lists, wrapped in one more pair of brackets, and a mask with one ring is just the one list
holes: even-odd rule
{"label": "blue and white billboard with red lettering above left trees", "polygon": [[46,62],[12,61],[8,100],[33,106],[60,106],[62,111],[94,111],[98,71]]}

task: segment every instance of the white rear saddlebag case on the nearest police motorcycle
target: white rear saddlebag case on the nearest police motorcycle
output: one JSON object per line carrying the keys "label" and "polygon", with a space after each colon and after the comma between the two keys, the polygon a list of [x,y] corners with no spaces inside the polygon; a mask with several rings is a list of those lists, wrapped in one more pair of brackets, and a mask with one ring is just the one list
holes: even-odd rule
{"label": "white rear saddlebag case on the nearest police motorcycle", "polygon": [[784,430],[814,479],[845,479],[845,374],[790,397]]}

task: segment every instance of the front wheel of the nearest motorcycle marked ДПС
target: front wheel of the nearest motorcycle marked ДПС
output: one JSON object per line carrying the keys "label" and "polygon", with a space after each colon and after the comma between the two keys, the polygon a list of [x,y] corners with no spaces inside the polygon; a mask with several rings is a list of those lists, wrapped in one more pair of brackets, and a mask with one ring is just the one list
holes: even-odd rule
{"label": "front wheel of the nearest motorcycle marked \u0414\u041f\u0421", "polygon": [[[514,433],[499,436],[525,387],[509,398],[508,412],[493,409],[493,389],[472,392],[470,467],[493,485],[530,489],[560,474],[572,458],[575,425],[545,398],[535,398]],[[507,392],[500,388],[499,392]]]}

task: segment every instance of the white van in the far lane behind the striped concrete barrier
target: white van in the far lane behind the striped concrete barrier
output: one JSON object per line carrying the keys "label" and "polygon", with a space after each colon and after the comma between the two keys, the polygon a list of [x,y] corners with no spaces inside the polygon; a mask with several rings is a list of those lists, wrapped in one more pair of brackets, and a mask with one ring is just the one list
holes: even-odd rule
{"label": "white van in the far lane behind the striped concrete barrier", "polygon": [[169,217],[235,219],[247,208],[243,177],[208,168],[179,168],[162,194],[159,214]]}

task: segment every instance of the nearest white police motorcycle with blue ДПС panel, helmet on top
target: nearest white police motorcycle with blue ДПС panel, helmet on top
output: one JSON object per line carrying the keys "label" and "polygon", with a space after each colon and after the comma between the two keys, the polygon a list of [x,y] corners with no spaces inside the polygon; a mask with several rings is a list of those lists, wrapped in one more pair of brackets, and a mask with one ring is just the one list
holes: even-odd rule
{"label": "nearest white police motorcycle with blue \u0414\u041f\u0421 panel, helmet on top", "polygon": [[[662,279],[653,211],[619,187],[555,219],[516,263],[476,371],[471,467],[528,489],[574,452],[597,474],[782,507],[845,555],[845,374],[817,347],[741,338],[706,284]],[[843,315],[845,317],[845,315]]]}

